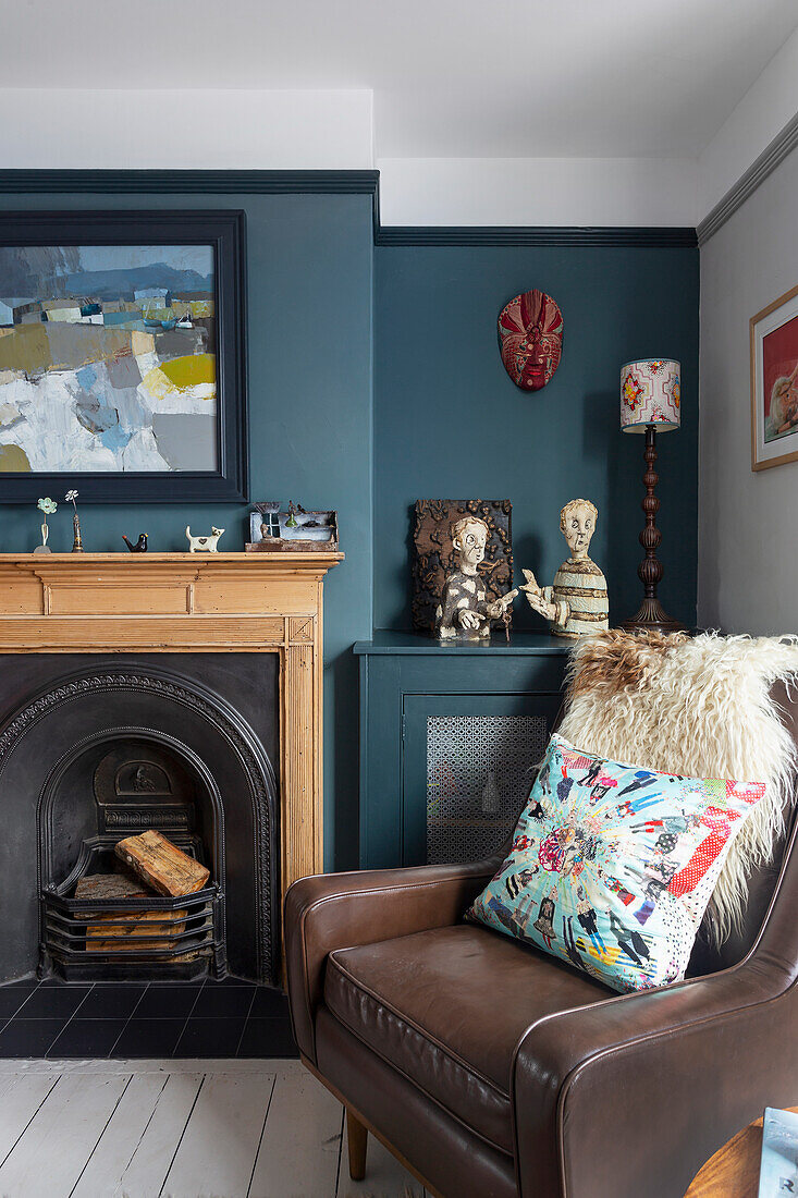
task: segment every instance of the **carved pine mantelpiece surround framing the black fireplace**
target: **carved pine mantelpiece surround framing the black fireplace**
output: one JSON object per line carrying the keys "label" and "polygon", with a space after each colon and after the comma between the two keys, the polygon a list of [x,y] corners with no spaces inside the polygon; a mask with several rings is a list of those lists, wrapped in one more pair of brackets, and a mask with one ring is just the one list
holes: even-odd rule
{"label": "carved pine mantelpiece surround framing the black fireplace", "polygon": [[0,553],[0,653],[278,653],[280,889],[324,870],[322,583],[343,553]]}

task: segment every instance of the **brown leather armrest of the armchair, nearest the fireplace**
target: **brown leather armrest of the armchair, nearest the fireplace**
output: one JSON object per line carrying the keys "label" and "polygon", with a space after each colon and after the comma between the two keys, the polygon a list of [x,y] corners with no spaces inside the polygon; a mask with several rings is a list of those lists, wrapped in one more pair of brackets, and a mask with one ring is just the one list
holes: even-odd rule
{"label": "brown leather armrest of the armchair, nearest the fireplace", "polygon": [[294,1036],[315,1064],[314,1015],[334,949],[457,924],[492,878],[501,857],[474,865],[321,873],[285,895],[283,927]]}

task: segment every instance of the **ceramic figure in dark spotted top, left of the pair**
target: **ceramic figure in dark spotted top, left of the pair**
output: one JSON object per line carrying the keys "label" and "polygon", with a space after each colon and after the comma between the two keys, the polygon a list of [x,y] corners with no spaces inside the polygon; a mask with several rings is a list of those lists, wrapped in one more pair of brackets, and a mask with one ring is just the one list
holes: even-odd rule
{"label": "ceramic figure in dark spotted top, left of the pair", "polygon": [[488,603],[479,563],[485,556],[489,528],[479,516],[464,516],[452,525],[457,569],[447,575],[435,612],[435,631],[442,641],[479,641],[490,636],[490,622],[501,619],[518,589]]}

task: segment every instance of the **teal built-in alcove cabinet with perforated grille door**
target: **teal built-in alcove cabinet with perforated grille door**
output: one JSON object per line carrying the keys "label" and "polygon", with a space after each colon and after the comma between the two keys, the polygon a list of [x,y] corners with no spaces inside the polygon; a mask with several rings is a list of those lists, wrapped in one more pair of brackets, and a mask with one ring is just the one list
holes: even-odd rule
{"label": "teal built-in alcove cabinet with perforated grille door", "polygon": [[377,633],[359,660],[359,861],[477,860],[512,830],[562,703],[568,645]]}

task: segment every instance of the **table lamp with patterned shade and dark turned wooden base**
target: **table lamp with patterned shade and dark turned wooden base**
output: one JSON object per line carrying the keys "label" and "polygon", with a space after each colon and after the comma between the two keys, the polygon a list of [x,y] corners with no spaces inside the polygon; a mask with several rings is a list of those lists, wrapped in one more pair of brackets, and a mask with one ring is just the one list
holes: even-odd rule
{"label": "table lamp with patterned shade and dark turned wooden base", "polygon": [[640,544],[646,550],[646,556],[637,567],[645,598],[637,615],[622,624],[630,633],[645,629],[675,633],[684,628],[684,624],[671,619],[657,598],[657,586],[663,577],[663,563],[657,557],[657,549],[663,534],[657,527],[659,500],[654,495],[659,480],[654,470],[657,432],[672,432],[681,424],[681,374],[678,362],[659,358],[627,362],[621,368],[621,429],[623,432],[646,434],[646,495],[640,504],[646,514],[646,527],[640,533]]}

